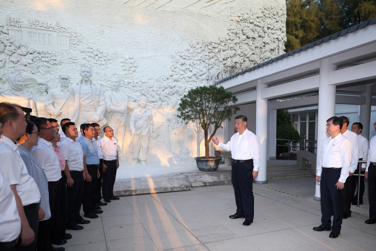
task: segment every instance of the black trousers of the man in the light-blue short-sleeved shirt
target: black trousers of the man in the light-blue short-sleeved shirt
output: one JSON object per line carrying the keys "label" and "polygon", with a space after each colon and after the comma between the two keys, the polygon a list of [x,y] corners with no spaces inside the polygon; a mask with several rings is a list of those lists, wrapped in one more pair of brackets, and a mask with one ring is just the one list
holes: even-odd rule
{"label": "black trousers of the man in the light-blue short-sleeved shirt", "polygon": [[94,213],[97,205],[98,166],[86,164],[91,182],[85,180],[83,183],[82,209],[85,214]]}

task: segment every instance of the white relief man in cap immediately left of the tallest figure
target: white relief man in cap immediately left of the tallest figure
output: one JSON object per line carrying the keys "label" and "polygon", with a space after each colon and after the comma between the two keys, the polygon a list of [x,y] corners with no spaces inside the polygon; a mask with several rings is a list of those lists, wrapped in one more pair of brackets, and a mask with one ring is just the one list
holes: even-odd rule
{"label": "white relief man in cap immediately left of the tallest figure", "polygon": [[60,87],[49,90],[44,107],[59,122],[68,117],[68,97],[70,76],[67,73],[59,74]]}

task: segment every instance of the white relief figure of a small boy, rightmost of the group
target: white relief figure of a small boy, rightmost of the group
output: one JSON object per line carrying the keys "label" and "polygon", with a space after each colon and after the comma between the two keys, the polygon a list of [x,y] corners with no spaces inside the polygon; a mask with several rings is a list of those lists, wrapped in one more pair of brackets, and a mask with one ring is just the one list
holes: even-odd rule
{"label": "white relief figure of a small boy, rightmost of the group", "polygon": [[141,161],[141,165],[146,166],[146,158],[149,149],[150,137],[153,135],[153,114],[146,108],[147,98],[141,96],[139,108],[133,110],[130,116],[129,129],[132,134],[130,145],[133,145],[133,163]]}

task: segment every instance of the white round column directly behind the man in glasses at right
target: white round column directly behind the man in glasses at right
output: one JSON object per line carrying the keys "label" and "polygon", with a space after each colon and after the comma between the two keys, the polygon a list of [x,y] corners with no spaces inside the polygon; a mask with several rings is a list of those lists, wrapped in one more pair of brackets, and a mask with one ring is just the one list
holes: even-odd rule
{"label": "white round column directly behind the man in glasses at right", "polygon": [[[326,132],[326,120],[335,116],[335,85],[328,85],[328,72],[337,70],[337,65],[328,64],[328,59],[320,60],[320,76],[318,85],[318,119],[317,119],[317,158],[320,160],[324,140],[329,137]],[[317,168],[317,167],[316,167]],[[316,191],[313,199],[321,200],[320,183],[315,181]]]}

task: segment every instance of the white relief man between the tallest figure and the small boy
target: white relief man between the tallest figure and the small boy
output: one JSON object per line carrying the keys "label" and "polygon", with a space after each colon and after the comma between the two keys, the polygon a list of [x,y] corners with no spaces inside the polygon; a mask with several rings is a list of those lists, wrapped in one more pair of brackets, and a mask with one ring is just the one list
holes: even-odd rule
{"label": "white relief man between the tallest figure and the small boy", "polygon": [[123,152],[125,130],[127,126],[127,111],[137,108],[136,103],[128,102],[127,94],[120,90],[121,79],[114,77],[110,79],[111,90],[105,92],[106,120],[114,130],[114,136],[118,141],[121,153]]}

